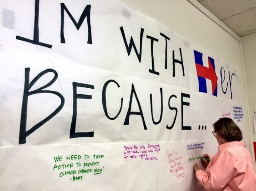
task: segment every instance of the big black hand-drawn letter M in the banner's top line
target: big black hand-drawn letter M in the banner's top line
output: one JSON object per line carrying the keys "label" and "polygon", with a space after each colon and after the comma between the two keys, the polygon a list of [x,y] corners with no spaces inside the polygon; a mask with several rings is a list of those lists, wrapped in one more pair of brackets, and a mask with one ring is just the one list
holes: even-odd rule
{"label": "big black hand-drawn letter M in the banner's top line", "polygon": [[84,11],[83,11],[83,13],[82,13],[78,22],[75,21],[74,17],[71,15],[71,13],[69,12],[68,8],[66,7],[66,5],[64,3],[60,3],[60,8],[61,8],[60,42],[61,43],[66,43],[65,37],[64,37],[64,10],[65,10],[66,13],[68,14],[68,16],[70,17],[70,19],[72,20],[72,22],[74,23],[77,30],[80,29],[82,23],[84,22],[85,17],[87,17],[87,26],[88,26],[87,44],[92,44],[92,41],[91,41],[91,22],[90,22],[91,5],[86,5],[86,7],[84,8]]}

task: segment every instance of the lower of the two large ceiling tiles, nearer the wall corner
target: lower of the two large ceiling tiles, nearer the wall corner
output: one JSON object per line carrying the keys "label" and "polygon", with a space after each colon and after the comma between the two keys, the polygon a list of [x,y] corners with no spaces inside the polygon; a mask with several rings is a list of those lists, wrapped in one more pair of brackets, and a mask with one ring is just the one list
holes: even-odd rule
{"label": "lower of the two large ceiling tiles, nearer the wall corner", "polygon": [[222,21],[235,33],[240,34],[245,31],[256,29],[256,19],[254,18],[256,18],[256,7],[223,19]]}

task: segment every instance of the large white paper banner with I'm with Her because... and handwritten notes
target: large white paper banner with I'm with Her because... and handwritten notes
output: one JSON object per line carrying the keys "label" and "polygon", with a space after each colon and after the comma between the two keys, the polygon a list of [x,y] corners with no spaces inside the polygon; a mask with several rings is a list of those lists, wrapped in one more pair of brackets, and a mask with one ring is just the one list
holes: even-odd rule
{"label": "large white paper banner with I'm with Her because... and handwritten notes", "polygon": [[0,190],[200,190],[238,68],[118,1],[2,0]]}

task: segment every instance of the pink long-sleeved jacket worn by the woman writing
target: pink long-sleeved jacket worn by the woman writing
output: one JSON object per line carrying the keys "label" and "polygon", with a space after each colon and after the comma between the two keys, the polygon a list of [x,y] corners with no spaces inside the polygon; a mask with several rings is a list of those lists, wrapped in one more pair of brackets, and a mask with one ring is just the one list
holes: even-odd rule
{"label": "pink long-sleeved jacket worn by the woman writing", "polygon": [[197,179],[209,191],[256,191],[256,175],[250,153],[240,141],[219,145],[205,171]]}

